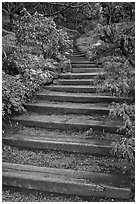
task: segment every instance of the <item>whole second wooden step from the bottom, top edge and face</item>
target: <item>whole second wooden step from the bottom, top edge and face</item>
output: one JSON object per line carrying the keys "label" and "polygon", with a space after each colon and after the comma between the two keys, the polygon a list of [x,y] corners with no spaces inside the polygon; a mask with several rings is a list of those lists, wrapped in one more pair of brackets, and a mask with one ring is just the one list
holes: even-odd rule
{"label": "whole second wooden step from the bottom, top edge and face", "polygon": [[77,152],[107,157],[114,156],[111,153],[112,142],[108,140],[59,138],[58,135],[54,135],[53,138],[47,134],[45,136],[11,134],[3,138],[2,142],[15,147]]}

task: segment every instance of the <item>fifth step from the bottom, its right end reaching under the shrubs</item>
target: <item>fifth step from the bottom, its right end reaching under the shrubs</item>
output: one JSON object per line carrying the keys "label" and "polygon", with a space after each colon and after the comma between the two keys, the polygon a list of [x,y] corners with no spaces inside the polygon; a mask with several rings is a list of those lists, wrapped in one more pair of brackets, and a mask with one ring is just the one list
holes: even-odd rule
{"label": "fifth step from the bottom, its right end reaching under the shrubs", "polygon": [[113,96],[104,96],[97,94],[73,94],[73,93],[63,93],[63,92],[52,92],[46,91],[36,94],[38,100],[49,100],[49,101],[60,101],[60,102],[75,102],[75,103],[132,103],[132,98],[126,97],[113,97]]}

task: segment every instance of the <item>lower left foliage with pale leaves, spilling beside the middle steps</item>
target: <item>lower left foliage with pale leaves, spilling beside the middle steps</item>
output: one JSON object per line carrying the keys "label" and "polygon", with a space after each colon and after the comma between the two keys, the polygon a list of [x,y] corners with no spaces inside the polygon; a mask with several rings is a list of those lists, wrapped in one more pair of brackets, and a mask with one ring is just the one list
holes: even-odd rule
{"label": "lower left foliage with pale leaves, spilling beside the middle steps", "polygon": [[25,111],[24,104],[34,97],[43,84],[53,81],[52,75],[45,71],[26,69],[24,76],[11,76],[2,72],[2,116]]}

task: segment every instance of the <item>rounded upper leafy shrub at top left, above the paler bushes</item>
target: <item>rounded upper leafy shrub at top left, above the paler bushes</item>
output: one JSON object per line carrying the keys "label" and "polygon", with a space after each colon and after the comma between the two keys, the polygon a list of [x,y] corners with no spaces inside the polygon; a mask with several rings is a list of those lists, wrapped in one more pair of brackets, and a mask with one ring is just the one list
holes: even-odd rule
{"label": "rounded upper leafy shrub at top left, above the paler bushes", "polygon": [[25,9],[24,16],[17,21],[14,31],[19,45],[37,45],[45,58],[64,53],[71,45],[67,33],[57,29],[53,19],[37,12],[31,15]]}

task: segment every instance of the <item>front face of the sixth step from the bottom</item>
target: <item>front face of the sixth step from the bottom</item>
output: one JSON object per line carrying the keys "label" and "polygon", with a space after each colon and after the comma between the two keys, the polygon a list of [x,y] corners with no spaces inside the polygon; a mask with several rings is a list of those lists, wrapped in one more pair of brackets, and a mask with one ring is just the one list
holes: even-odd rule
{"label": "front face of the sixth step from the bottom", "polygon": [[46,90],[49,91],[59,91],[59,92],[71,92],[71,93],[95,93],[96,88],[69,88],[69,87],[52,87],[52,86],[47,86],[45,87]]}

